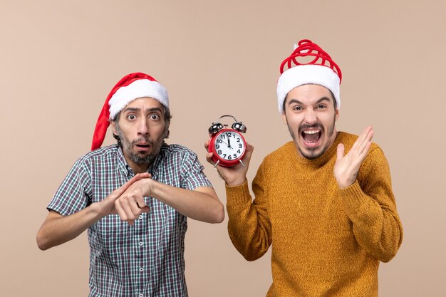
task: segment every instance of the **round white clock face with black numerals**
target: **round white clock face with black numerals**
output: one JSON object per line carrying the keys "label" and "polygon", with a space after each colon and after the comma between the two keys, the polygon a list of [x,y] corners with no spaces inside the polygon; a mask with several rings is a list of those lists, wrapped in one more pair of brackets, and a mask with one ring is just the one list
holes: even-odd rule
{"label": "round white clock face with black numerals", "polygon": [[223,160],[237,160],[244,155],[246,146],[239,132],[224,130],[214,140],[215,152]]}

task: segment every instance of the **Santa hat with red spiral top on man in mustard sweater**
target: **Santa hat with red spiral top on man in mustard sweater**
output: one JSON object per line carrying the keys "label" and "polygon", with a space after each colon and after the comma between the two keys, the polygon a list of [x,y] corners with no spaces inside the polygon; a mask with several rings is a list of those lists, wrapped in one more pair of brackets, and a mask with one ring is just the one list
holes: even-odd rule
{"label": "Santa hat with red spiral top on man in mustard sweater", "polygon": [[[314,58],[306,63],[297,61],[297,58],[306,56]],[[286,71],[284,71],[285,66],[288,68]],[[341,68],[316,43],[308,39],[299,41],[299,46],[296,46],[291,56],[281,63],[280,73],[277,81],[277,102],[280,113],[284,112],[284,100],[289,91],[299,85],[310,83],[322,85],[331,90],[337,107],[341,107],[339,96],[339,85],[342,80]]]}

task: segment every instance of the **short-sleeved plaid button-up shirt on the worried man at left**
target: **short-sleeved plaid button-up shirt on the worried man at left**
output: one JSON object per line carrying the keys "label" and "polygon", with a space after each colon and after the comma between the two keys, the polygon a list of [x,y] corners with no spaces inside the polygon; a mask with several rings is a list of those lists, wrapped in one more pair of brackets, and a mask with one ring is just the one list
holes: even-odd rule
{"label": "short-sleeved plaid button-up shirt on the worried man at left", "polygon": [[[174,187],[212,187],[202,170],[194,152],[165,144],[148,172],[152,179]],[[71,168],[48,209],[63,216],[74,214],[103,200],[134,175],[118,145],[94,150]],[[187,296],[187,218],[152,197],[145,197],[145,203],[150,212],[133,225],[112,214],[88,229],[90,296]]]}

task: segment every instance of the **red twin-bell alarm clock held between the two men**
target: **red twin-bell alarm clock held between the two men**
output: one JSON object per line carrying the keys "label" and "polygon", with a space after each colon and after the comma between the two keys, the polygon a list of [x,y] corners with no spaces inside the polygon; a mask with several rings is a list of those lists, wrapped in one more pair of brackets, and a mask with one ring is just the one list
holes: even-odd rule
{"label": "red twin-bell alarm clock held between the two men", "polygon": [[[222,125],[219,120],[224,117],[231,117],[234,119],[234,124],[231,128],[227,125]],[[222,115],[216,123],[212,123],[209,127],[208,152],[212,152],[212,160],[215,166],[232,167],[237,164],[243,164],[242,159],[244,153],[247,151],[247,142],[244,140],[242,133],[247,132],[247,127],[242,122],[237,122],[232,115]]]}

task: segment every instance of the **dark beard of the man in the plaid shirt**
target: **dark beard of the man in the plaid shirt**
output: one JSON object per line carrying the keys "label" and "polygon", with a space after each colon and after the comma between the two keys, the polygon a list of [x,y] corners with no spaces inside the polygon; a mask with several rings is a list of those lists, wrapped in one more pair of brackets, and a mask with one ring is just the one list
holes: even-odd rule
{"label": "dark beard of the man in the plaid shirt", "polygon": [[[118,132],[118,137],[120,140],[119,143],[121,148],[123,149],[124,154],[138,165],[151,165],[153,160],[155,160],[155,157],[160,152],[162,145],[164,144],[165,135],[162,135],[162,137],[157,140],[150,140],[150,138],[148,137],[140,137],[136,140],[130,141],[123,135],[123,132],[120,130],[119,125],[116,125],[115,127],[116,132]],[[138,142],[147,142],[150,147],[152,147],[151,152],[149,152],[148,155],[140,155],[138,154],[138,152],[133,152],[133,145]]]}

